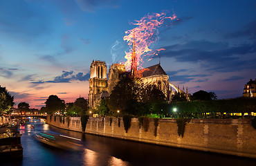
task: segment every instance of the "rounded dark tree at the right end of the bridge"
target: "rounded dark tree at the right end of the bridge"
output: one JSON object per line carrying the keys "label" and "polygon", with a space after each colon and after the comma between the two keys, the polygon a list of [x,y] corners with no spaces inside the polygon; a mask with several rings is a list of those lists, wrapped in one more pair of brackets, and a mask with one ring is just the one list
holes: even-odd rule
{"label": "rounded dark tree at the right end of the bridge", "polygon": [[50,95],[45,102],[47,113],[52,115],[53,113],[60,111],[64,112],[65,110],[65,102],[64,100],[60,100],[57,95]]}

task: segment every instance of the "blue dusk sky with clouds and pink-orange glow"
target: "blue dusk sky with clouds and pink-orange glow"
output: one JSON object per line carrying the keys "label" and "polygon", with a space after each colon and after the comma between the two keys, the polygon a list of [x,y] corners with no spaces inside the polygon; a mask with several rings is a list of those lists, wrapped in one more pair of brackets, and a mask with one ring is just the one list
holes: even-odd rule
{"label": "blue dusk sky with clouds and pink-orange glow", "polygon": [[[131,22],[151,13],[178,20],[158,28],[152,48],[165,48],[161,66],[188,92],[219,99],[242,95],[256,78],[256,1],[1,0],[0,85],[40,109],[49,95],[88,98],[93,59],[124,60]],[[158,56],[143,67],[159,62]]]}

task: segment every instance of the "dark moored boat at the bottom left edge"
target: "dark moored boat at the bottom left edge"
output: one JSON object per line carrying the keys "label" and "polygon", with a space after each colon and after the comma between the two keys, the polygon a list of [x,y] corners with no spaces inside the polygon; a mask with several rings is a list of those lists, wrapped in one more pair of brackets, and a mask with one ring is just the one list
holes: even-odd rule
{"label": "dark moored boat at the bottom left edge", "polygon": [[21,134],[17,127],[0,127],[0,158],[22,158]]}

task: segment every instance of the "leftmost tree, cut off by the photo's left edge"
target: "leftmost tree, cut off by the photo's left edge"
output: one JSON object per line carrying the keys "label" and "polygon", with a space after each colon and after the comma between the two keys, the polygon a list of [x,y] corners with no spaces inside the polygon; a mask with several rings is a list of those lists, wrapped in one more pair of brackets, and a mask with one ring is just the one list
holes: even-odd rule
{"label": "leftmost tree, cut off by the photo's left edge", "polygon": [[12,111],[12,107],[15,104],[13,100],[14,97],[8,93],[6,88],[0,86],[0,115],[8,114]]}

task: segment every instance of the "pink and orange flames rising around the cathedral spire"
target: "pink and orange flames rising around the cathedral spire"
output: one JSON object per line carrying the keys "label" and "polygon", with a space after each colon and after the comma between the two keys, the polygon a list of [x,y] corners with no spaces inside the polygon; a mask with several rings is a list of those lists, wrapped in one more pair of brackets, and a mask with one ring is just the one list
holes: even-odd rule
{"label": "pink and orange flames rising around the cathedral spire", "polygon": [[[136,20],[136,23],[131,23],[137,26],[134,29],[125,31],[125,37],[123,39],[128,43],[130,50],[129,53],[125,52],[125,59],[127,61],[124,63],[125,68],[130,68],[131,66],[131,55],[132,55],[132,45],[134,43],[134,35],[135,35],[135,49],[136,49],[136,58],[137,58],[137,66],[138,70],[143,69],[143,58],[149,57],[149,60],[152,59],[152,56],[158,53],[161,50],[165,50],[164,48],[159,48],[157,50],[152,50],[149,48],[151,44],[157,42],[158,35],[158,27],[162,26],[165,20],[177,19],[176,15],[172,15],[171,17],[166,16],[166,12],[153,13],[152,15],[146,15],[140,20]],[[144,71],[144,70],[142,70]],[[141,73],[141,72],[139,72]],[[139,74],[138,73],[138,74]]]}

